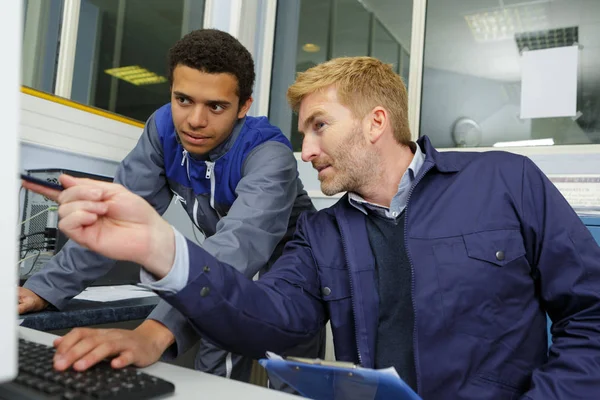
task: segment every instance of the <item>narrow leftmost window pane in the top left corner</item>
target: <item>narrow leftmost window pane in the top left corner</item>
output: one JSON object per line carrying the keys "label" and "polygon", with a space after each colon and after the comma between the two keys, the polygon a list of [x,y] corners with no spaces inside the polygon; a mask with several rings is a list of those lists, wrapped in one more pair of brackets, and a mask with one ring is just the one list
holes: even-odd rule
{"label": "narrow leftmost window pane in the top left corner", "polygon": [[62,0],[23,3],[21,82],[24,86],[54,92],[62,8]]}

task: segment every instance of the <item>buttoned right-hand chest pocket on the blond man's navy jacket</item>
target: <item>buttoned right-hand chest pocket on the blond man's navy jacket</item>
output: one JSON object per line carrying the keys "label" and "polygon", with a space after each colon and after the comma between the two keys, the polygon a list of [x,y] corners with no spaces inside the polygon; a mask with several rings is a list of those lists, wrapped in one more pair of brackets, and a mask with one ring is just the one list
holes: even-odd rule
{"label": "buttoned right-hand chest pocket on the blond man's navy jacket", "polygon": [[448,329],[495,339],[520,317],[532,280],[520,231],[445,238],[433,246]]}

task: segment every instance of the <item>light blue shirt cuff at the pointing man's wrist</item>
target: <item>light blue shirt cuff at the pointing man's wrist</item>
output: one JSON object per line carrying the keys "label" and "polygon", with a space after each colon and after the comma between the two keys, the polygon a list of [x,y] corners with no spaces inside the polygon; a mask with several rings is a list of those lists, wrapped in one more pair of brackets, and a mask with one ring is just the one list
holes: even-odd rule
{"label": "light blue shirt cuff at the pointing man's wrist", "polygon": [[155,292],[177,293],[187,285],[190,274],[190,260],[187,240],[177,229],[175,233],[175,260],[169,273],[162,279],[156,278],[145,269],[140,269],[140,285]]}

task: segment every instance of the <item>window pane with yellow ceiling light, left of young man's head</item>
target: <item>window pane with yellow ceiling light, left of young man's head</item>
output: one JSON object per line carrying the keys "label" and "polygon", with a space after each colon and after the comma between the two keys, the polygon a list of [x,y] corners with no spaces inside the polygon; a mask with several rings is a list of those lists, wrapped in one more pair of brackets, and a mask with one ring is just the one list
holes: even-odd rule
{"label": "window pane with yellow ceiling light, left of young man's head", "polygon": [[82,0],[71,98],[145,121],[170,99],[169,48],[201,28],[203,10],[196,0]]}

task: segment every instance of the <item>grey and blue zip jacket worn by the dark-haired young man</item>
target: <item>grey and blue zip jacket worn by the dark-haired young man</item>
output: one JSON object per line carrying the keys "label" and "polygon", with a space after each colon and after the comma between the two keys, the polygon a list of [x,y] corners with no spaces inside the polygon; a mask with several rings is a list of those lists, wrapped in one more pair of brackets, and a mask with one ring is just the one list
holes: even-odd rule
{"label": "grey and blue zip jacket worn by the dark-haired young man", "polygon": [[[314,210],[290,142],[265,117],[240,119],[225,142],[199,158],[182,147],[166,104],[148,119],[115,182],[160,214],[176,197],[204,232],[202,247],[248,277],[269,268],[294,233],[300,213]],[[114,263],[69,241],[24,287],[61,309]],[[165,302],[149,318],[175,334],[170,356],[182,354],[198,339],[187,319]],[[200,369],[214,372],[213,367]]]}

